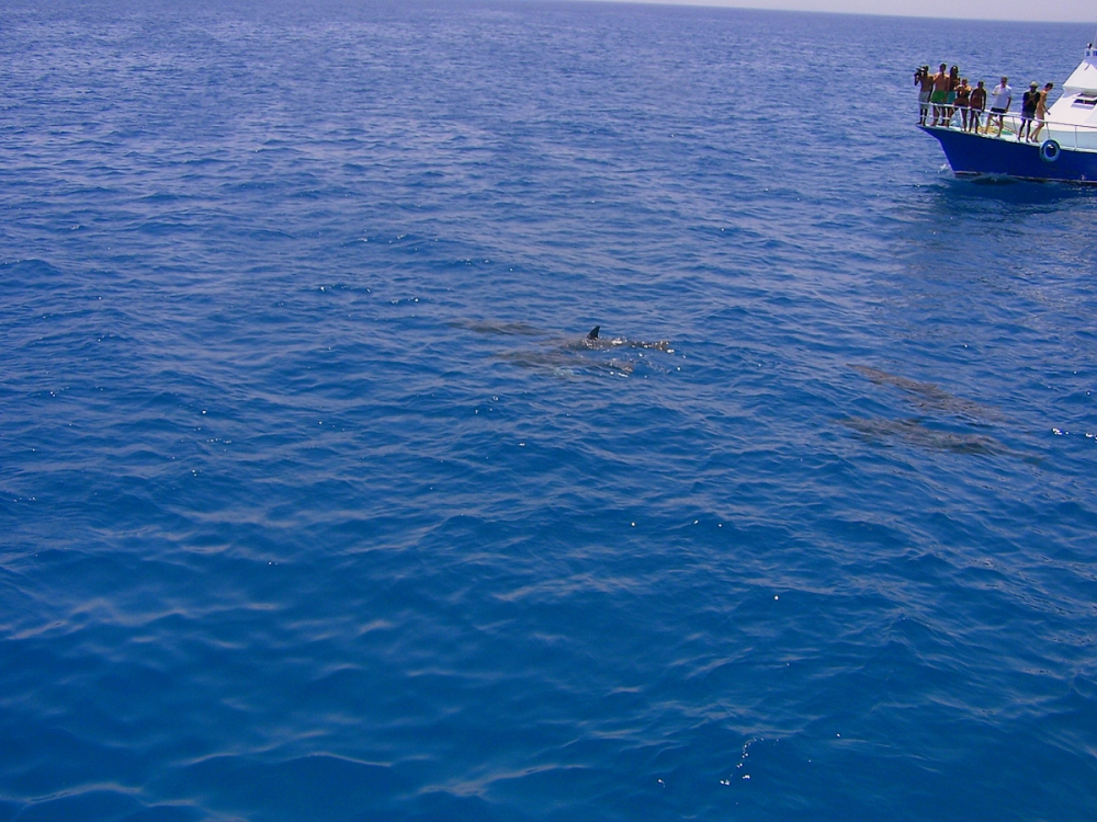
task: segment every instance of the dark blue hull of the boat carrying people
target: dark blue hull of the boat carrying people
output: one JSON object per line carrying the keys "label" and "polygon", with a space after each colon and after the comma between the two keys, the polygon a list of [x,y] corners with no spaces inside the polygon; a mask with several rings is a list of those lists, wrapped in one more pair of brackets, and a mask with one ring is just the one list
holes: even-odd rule
{"label": "dark blue hull of the boat carrying people", "polygon": [[952,171],[961,176],[1011,176],[1018,180],[1097,185],[1097,152],[1061,148],[1054,161],[1041,158],[1040,144],[984,137],[952,128],[918,126],[937,138]]}

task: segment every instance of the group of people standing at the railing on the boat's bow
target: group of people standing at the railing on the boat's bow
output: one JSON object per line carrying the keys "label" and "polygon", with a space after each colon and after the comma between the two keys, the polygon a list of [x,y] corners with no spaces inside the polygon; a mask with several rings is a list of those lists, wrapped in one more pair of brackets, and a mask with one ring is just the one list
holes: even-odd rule
{"label": "group of people standing at the railing on the boat's bow", "polygon": [[[929,111],[932,109],[934,122],[930,127],[952,128],[953,118],[959,114],[957,126],[964,132],[989,135],[997,125],[996,137],[1002,136],[1005,115],[1014,102],[1014,90],[1009,78],[1003,77],[1002,82],[987,92],[980,80],[974,88],[968,84],[966,77],[960,77],[960,69],[948,68],[941,64],[936,75],[929,72],[929,66],[923,66],[914,72],[914,84],[918,87],[919,125],[926,125]],[[1047,83],[1041,91],[1039,83],[1029,83],[1028,91],[1021,96],[1020,127],[1016,130],[1018,141],[1040,141],[1040,132],[1048,118],[1048,94],[1055,87]],[[991,111],[984,112],[989,102]]]}

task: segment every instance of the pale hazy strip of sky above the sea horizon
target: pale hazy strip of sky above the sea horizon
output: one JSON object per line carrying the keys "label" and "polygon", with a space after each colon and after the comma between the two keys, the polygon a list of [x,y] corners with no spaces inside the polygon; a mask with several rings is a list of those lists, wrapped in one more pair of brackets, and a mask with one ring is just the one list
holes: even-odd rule
{"label": "pale hazy strip of sky above the sea horizon", "polygon": [[1043,20],[1048,22],[1094,23],[1097,2],[1093,0],[627,0],[629,2],[679,3],[682,5],[730,5],[750,9],[794,9],[838,11],[857,14],[898,14],[919,18],[966,18],[982,20]]}

